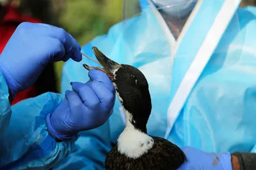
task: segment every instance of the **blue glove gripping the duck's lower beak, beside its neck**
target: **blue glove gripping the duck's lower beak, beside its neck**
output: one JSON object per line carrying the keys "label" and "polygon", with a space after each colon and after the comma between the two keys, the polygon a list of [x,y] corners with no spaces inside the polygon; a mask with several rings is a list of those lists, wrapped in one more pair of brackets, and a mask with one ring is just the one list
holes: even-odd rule
{"label": "blue glove gripping the duck's lower beak, beside its neck", "polygon": [[103,125],[115,104],[115,87],[106,73],[89,71],[87,83],[72,82],[60,106],[47,116],[48,131],[56,139],[70,139],[79,131]]}

